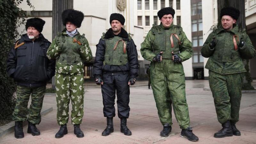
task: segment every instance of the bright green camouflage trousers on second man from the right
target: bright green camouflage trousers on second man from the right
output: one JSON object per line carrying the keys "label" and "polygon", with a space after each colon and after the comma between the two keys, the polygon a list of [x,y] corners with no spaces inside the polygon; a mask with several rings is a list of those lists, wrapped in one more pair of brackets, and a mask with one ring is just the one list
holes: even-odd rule
{"label": "bright green camouflage trousers on second man from the right", "polygon": [[162,62],[151,62],[150,80],[161,123],[172,125],[173,107],[180,128],[188,128],[189,114],[182,64],[174,64],[172,60],[166,59]]}

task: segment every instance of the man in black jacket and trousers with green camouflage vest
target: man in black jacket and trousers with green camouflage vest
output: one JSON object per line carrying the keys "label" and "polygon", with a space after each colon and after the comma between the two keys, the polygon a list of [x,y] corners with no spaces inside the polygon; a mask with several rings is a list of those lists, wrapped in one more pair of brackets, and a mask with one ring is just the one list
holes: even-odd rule
{"label": "man in black jacket and trousers with green camouflage vest", "polygon": [[101,85],[103,114],[107,117],[107,127],[102,136],[114,132],[113,117],[117,96],[118,117],[121,119],[121,132],[132,135],[126,122],[129,117],[130,85],[135,84],[138,76],[138,53],[132,37],[124,26],[124,16],[119,13],[110,15],[111,28],[103,33],[97,44],[93,75],[96,84]]}

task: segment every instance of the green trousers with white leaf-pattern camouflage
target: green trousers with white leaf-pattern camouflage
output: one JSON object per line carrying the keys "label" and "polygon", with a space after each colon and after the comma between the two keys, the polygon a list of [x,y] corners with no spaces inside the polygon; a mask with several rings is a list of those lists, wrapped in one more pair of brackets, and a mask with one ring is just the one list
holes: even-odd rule
{"label": "green trousers with white leaf-pattern camouflage", "polygon": [[84,116],[84,75],[66,75],[56,73],[57,123],[68,123],[69,101],[71,99],[72,124],[81,124]]}

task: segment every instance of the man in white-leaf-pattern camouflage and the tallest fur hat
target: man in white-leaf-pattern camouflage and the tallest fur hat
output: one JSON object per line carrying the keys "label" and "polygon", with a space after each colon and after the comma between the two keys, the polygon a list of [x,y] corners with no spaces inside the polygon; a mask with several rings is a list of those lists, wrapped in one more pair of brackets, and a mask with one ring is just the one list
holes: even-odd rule
{"label": "man in white-leaf-pattern camouflage and the tallest fur hat", "polygon": [[56,59],[56,101],[57,123],[60,130],[55,138],[68,133],[69,101],[72,102],[71,122],[74,124],[76,137],[84,137],[80,129],[84,116],[84,62],[92,59],[92,52],[87,39],[80,35],[84,13],[72,9],[62,12],[62,23],[66,27],[52,41],[47,57]]}

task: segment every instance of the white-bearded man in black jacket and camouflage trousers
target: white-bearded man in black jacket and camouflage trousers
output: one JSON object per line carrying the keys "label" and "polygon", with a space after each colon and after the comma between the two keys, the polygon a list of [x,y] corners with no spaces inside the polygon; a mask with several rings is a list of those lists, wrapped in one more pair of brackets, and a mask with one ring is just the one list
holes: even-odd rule
{"label": "white-bearded man in black jacket and camouflage trousers", "polygon": [[[45,21],[27,20],[27,34],[23,34],[11,49],[7,60],[7,73],[17,82],[17,102],[12,114],[15,121],[14,136],[23,138],[23,121],[28,121],[28,133],[40,135],[36,124],[41,122],[41,109],[46,82],[54,75],[55,60],[48,60],[46,51],[50,42],[41,34]],[[28,100],[31,95],[31,105]],[[28,115],[28,117],[27,117]]]}

